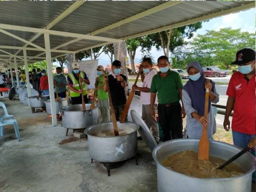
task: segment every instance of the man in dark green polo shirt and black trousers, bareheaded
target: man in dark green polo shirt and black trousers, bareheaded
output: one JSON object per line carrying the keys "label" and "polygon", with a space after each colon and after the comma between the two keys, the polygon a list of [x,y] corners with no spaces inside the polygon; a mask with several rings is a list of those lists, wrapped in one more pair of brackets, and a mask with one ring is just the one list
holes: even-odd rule
{"label": "man in dark green polo shirt and black trousers, bareheaded", "polygon": [[183,138],[182,118],[186,116],[184,108],[180,106],[183,87],[181,78],[178,73],[169,70],[169,65],[168,57],[160,56],[157,59],[160,72],[153,77],[150,87],[151,116],[155,118],[154,103],[157,95],[163,141]]}

